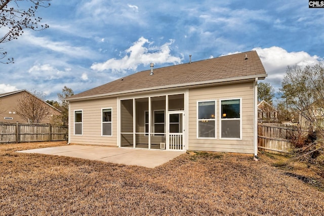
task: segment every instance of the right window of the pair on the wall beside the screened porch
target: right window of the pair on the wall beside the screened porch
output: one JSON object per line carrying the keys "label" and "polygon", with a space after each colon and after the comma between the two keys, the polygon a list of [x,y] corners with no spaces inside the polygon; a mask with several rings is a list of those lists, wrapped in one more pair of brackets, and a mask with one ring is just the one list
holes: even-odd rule
{"label": "right window of the pair on the wall beside the screened porch", "polygon": [[241,99],[221,100],[221,138],[241,138]]}

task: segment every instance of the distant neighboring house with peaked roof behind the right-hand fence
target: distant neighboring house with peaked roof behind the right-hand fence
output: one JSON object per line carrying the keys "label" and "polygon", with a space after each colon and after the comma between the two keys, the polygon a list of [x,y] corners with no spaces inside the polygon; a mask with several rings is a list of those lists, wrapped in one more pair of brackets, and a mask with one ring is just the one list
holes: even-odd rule
{"label": "distant neighboring house with peaked roof behind the right-hand fence", "polygon": [[260,122],[276,122],[277,110],[265,100],[258,104],[258,121]]}

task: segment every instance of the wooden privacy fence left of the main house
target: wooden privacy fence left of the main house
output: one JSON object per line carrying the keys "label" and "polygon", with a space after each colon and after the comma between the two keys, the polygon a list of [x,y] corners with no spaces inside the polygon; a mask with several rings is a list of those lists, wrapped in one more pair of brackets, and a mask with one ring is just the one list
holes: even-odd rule
{"label": "wooden privacy fence left of the main house", "polygon": [[18,122],[0,123],[0,144],[63,140],[67,140],[67,127]]}

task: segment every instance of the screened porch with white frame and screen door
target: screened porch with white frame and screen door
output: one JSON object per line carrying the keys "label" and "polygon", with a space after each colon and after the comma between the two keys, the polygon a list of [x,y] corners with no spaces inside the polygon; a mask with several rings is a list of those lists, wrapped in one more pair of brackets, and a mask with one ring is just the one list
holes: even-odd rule
{"label": "screened porch with white frame and screen door", "polygon": [[119,146],[185,150],[185,94],[119,100]]}

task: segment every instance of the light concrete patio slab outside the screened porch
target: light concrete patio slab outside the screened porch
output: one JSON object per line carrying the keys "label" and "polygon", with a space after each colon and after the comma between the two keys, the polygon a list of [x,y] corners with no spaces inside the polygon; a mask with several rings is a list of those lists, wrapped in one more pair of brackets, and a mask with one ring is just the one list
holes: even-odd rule
{"label": "light concrete patio slab outside the screened porch", "polygon": [[145,166],[148,168],[162,165],[184,154],[183,151],[160,151],[88,145],[68,145],[17,152],[68,156],[125,165]]}

